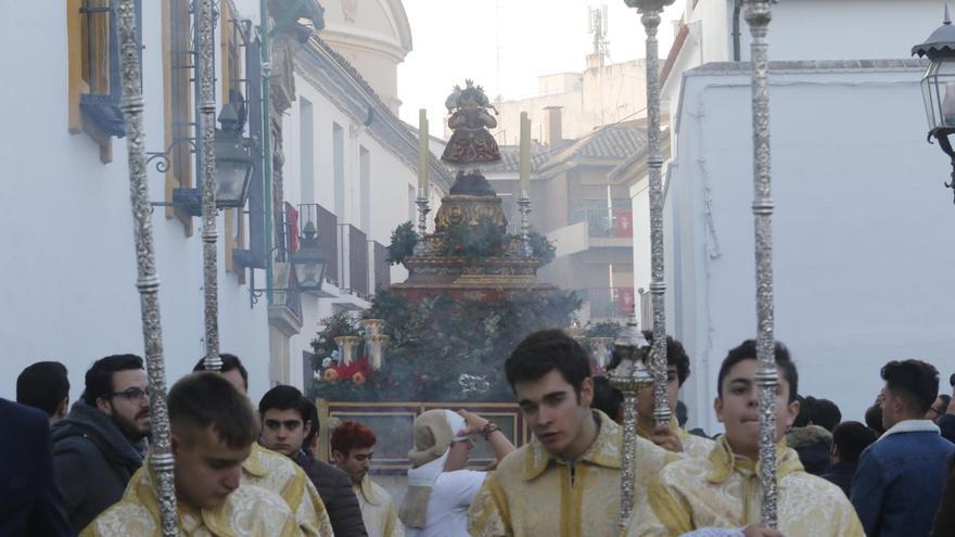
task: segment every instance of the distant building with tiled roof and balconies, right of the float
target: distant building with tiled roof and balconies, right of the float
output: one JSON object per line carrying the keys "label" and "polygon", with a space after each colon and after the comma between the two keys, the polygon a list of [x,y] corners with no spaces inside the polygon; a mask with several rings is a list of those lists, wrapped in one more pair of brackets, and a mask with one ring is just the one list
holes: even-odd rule
{"label": "distant building with tiled roof and balconies, right of the float", "polygon": [[[542,282],[574,290],[581,322],[623,322],[633,309],[633,213],[628,177],[610,172],[646,148],[646,129],[608,125],[557,145],[534,144],[531,225],[557,248],[538,270]],[[520,232],[520,148],[501,146],[499,165],[482,168],[502,199],[511,232]]]}

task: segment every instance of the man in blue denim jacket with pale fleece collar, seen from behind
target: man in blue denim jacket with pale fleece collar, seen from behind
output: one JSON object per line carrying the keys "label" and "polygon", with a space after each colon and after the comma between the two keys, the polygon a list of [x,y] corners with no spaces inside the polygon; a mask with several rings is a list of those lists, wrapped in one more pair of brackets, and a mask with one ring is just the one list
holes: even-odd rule
{"label": "man in blue denim jacket with pale fleece collar, seen from behind", "polygon": [[932,527],[955,445],[925,414],[939,395],[939,371],[920,360],[881,371],[886,432],[863,451],[852,504],[866,535],[925,537]]}

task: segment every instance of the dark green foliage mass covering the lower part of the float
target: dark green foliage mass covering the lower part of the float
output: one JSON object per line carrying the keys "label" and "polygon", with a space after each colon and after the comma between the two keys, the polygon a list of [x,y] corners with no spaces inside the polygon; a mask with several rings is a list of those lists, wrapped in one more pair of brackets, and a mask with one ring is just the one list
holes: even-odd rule
{"label": "dark green foliage mass covering the lower part of the float", "polygon": [[[365,317],[385,321],[384,333],[391,336],[391,343],[384,367],[362,378],[362,385],[348,379],[327,380],[328,368],[321,362],[334,349],[327,328],[313,342],[318,378],[308,393],[344,401],[510,400],[513,394],[505,379],[504,361],[511,350],[531,332],[566,327],[580,306],[573,292],[559,290],[517,292],[496,298],[445,295],[420,301],[382,292]],[[469,395],[462,388],[462,374],[483,378],[487,389]]]}

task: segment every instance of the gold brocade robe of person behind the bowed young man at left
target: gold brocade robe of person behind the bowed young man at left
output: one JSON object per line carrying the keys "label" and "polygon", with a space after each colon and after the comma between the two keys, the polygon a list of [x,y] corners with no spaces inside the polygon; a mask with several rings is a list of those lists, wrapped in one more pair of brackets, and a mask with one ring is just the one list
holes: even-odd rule
{"label": "gold brocade robe of person behind the bowed young man at left", "polygon": [[292,459],[253,443],[249,458],[242,462],[242,483],[281,496],[295,513],[306,537],[333,537],[332,523],[318,489]]}

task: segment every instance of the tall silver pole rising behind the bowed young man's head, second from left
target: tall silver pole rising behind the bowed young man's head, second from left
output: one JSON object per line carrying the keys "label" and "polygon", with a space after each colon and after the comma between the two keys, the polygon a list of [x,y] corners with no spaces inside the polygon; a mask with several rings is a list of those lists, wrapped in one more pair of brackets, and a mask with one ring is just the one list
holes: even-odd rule
{"label": "tall silver pole rising behind the bowed young man's head, second from left", "polygon": [[[216,67],[215,4],[199,0],[199,148],[202,157],[202,260],[205,296],[205,360],[207,371],[222,369],[219,358],[219,282],[216,265]],[[266,126],[266,128],[268,128]]]}

